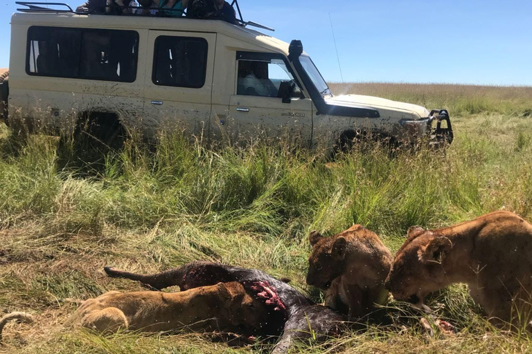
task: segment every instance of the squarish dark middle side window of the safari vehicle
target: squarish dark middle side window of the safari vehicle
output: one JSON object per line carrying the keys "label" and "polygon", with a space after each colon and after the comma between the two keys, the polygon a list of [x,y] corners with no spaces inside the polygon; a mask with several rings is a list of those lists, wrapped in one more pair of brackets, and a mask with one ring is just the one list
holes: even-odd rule
{"label": "squarish dark middle side window of the safari vehicle", "polygon": [[205,84],[206,39],[159,36],[155,39],[152,81],[160,86],[201,88]]}

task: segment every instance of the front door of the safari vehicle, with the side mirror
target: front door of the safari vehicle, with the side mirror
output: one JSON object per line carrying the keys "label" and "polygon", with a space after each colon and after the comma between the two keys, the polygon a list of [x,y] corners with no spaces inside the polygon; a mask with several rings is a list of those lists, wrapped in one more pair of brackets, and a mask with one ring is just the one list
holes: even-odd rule
{"label": "front door of the safari vehicle, with the side mirror", "polygon": [[312,100],[304,97],[284,55],[238,52],[227,128],[240,139],[286,138],[308,147]]}

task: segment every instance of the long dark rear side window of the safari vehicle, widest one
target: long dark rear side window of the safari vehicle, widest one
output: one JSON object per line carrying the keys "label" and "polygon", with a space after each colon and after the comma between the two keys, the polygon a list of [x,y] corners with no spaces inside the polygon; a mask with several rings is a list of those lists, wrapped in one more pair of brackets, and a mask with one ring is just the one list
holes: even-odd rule
{"label": "long dark rear side window of the safari vehicle, widest one", "polygon": [[134,82],[139,34],[33,26],[28,30],[26,73],[37,76]]}

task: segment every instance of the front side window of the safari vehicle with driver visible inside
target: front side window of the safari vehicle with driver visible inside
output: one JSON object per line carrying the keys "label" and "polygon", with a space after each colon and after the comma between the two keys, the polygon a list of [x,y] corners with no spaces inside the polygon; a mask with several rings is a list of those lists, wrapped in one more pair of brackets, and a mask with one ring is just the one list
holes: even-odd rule
{"label": "front side window of the safari vehicle with driver visible inside", "polygon": [[[279,97],[282,82],[294,82],[282,59],[238,60],[237,95]],[[300,97],[301,91],[295,86],[292,97]]]}

